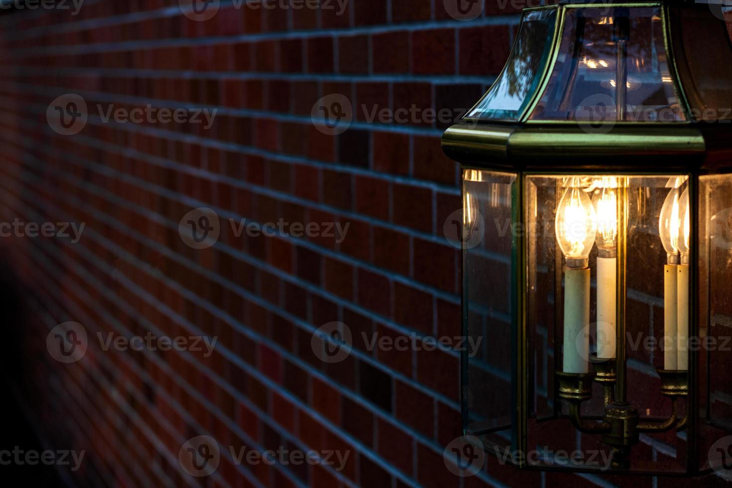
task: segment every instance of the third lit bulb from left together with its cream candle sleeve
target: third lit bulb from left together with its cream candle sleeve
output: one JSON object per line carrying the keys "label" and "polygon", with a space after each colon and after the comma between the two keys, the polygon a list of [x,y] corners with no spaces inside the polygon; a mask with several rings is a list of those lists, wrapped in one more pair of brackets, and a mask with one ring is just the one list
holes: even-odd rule
{"label": "third lit bulb from left together with its cream candle sleeve", "polygon": [[[671,187],[661,208],[661,214],[658,219],[658,233],[661,238],[661,244],[666,251],[668,264],[663,268],[663,367],[664,369],[679,369],[679,249],[683,242],[680,242],[681,236],[681,184],[684,178],[681,176],[671,178],[667,187]],[[687,196],[688,201],[688,196]],[[687,206],[688,207],[688,206]],[[685,211],[684,211],[685,212]],[[683,239],[681,239],[683,240]],[[687,266],[684,268],[688,269]],[[681,270],[684,273],[684,270]],[[688,287],[688,274],[687,274]],[[684,288],[684,283],[681,283]],[[688,288],[681,290],[684,296],[688,296]],[[688,298],[681,298],[681,307],[684,308],[684,301],[688,302]],[[688,306],[688,303],[687,303]],[[682,310],[682,313],[683,310]],[[688,313],[688,308],[687,312]],[[684,318],[681,318],[684,321]],[[687,319],[688,320],[688,319]],[[681,326],[684,329],[684,326]],[[686,328],[688,327],[688,324]],[[684,336],[686,332],[682,331]],[[685,353],[685,337],[684,337],[684,353],[681,355],[686,358]],[[682,364],[683,365],[683,364]]]}

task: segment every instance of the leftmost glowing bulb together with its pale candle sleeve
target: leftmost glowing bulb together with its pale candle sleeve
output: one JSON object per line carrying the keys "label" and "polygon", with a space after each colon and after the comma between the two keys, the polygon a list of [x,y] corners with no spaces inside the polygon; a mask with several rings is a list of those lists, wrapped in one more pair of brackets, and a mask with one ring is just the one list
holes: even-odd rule
{"label": "leftmost glowing bulb together with its pale candle sleeve", "polygon": [[567,266],[564,268],[564,345],[562,370],[586,373],[590,315],[590,269],[587,266],[597,233],[597,217],[581,180],[573,177],[556,210],[555,232]]}

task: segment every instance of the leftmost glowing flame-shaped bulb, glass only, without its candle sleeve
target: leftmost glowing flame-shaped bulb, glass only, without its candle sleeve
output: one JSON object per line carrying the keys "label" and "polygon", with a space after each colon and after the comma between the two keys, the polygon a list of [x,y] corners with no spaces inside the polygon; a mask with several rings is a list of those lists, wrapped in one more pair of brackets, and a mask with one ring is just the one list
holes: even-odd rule
{"label": "leftmost glowing flame-shaped bulb, glass only, without its candle sleeve", "polygon": [[559,200],[556,211],[556,240],[559,242],[568,268],[585,268],[595,234],[597,219],[592,202],[580,187],[578,176],[572,177],[569,187]]}

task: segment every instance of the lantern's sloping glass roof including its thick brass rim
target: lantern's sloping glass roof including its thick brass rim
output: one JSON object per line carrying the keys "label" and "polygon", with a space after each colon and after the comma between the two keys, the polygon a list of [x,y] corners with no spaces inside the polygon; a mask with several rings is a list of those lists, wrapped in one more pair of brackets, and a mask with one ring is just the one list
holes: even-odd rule
{"label": "lantern's sloping glass roof including its thick brass rim", "polygon": [[732,171],[721,11],[683,0],[524,10],[506,66],[444,133],[445,153],[493,168]]}

